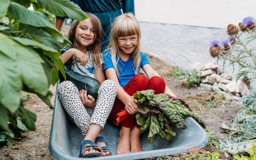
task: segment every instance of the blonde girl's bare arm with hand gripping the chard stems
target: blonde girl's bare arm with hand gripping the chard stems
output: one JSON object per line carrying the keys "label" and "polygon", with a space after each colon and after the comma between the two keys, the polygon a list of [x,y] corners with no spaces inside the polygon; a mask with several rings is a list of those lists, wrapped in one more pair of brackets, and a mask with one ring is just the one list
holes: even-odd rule
{"label": "blonde girl's bare arm with hand gripping the chard stems", "polygon": [[114,68],[107,68],[105,70],[108,79],[111,79],[117,84],[117,98],[120,99],[125,104],[125,110],[131,115],[138,111],[137,100],[132,99],[132,97],[125,92],[124,88],[120,86],[118,78],[116,76],[116,71]]}

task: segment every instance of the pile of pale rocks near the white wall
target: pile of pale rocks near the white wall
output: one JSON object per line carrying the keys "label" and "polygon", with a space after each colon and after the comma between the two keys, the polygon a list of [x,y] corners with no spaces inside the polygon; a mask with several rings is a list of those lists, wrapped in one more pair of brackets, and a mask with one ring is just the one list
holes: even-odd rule
{"label": "pile of pale rocks near the white wall", "polygon": [[196,62],[193,69],[201,72],[202,83],[210,84],[213,88],[218,88],[237,97],[250,93],[248,86],[243,81],[232,79],[231,75],[217,72],[218,65],[214,63],[202,65]]}

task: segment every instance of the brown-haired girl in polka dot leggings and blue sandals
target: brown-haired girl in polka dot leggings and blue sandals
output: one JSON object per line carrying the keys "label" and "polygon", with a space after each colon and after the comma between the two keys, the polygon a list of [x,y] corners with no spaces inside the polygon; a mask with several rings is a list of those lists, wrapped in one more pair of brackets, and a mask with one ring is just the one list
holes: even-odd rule
{"label": "brown-haired girl in polka dot leggings and blue sandals", "polygon": [[101,84],[97,101],[86,90],[77,90],[70,81],[63,81],[58,87],[58,96],[63,108],[74,120],[85,136],[81,143],[79,157],[110,155],[106,140],[100,136],[116,97],[116,84],[105,80],[100,53],[101,26],[99,19],[87,13],[88,19],[75,20],[69,31],[68,39],[72,45],[61,55],[63,64],[72,60],[73,72],[91,76]]}

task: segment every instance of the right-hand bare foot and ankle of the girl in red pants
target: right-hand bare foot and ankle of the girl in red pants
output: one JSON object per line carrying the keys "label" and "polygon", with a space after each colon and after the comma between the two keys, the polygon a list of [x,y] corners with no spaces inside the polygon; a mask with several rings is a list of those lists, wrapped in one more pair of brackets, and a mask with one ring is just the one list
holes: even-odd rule
{"label": "right-hand bare foot and ankle of the girl in red pants", "polygon": [[143,151],[140,143],[140,129],[136,126],[133,127],[131,131],[131,152],[141,152]]}

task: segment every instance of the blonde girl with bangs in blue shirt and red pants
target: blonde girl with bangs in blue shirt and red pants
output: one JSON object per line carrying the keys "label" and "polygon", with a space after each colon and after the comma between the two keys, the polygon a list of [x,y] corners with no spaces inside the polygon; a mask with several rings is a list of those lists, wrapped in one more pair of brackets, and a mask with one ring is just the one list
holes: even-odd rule
{"label": "blonde girl with bangs in blue shirt and red pants", "polygon": [[[140,127],[136,124],[134,115],[138,106],[131,95],[140,90],[151,89],[155,93],[168,93],[176,97],[166,86],[164,79],[150,66],[146,54],[140,51],[140,39],[140,26],[134,15],[120,15],[113,22],[109,49],[103,54],[103,70],[107,78],[117,84],[117,99],[108,120],[114,124],[116,114],[122,109],[131,114],[121,124],[117,154],[143,150]],[[140,74],[141,69],[147,76]]]}

